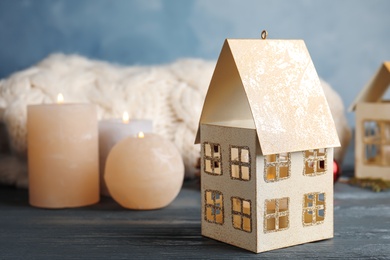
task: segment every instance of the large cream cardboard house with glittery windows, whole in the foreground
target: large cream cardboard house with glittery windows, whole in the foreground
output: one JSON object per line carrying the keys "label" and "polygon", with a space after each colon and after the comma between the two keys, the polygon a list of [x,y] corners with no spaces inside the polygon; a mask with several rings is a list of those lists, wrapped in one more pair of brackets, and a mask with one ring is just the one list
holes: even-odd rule
{"label": "large cream cardboard house with glittery windows, whole in the foreground", "polygon": [[302,40],[227,39],[195,143],[204,236],[253,252],[333,237],[339,140]]}

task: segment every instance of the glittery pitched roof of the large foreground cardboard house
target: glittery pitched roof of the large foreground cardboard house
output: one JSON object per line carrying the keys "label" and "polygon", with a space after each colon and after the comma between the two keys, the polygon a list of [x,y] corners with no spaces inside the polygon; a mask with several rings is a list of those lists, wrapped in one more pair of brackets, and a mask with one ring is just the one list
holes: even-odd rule
{"label": "glittery pitched roof of the large foreground cardboard house", "polygon": [[[302,40],[225,41],[199,124],[234,121],[241,127],[237,122],[248,119],[263,154],[340,145]],[[198,128],[196,143],[199,135]]]}

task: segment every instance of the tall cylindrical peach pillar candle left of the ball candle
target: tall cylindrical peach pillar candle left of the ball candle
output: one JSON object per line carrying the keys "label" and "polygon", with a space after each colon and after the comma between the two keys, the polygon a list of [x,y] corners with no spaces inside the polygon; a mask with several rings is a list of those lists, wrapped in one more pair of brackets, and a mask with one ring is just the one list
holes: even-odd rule
{"label": "tall cylindrical peach pillar candle left of the ball candle", "polygon": [[96,107],[31,105],[27,113],[30,204],[66,208],[98,202]]}

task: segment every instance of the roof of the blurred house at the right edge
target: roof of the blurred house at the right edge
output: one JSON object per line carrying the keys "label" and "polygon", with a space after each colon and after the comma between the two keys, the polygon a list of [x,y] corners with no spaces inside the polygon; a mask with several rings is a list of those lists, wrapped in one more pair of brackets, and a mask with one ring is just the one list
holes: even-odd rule
{"label": "roof of the blurred house at the right edge", "polygon": [[375,73],[374,77],[367,83],[363,90],[349,107],[349,111],[356,109],[359,102],[378,102],[385,94],[390,84],[390,61],[384,62]]}

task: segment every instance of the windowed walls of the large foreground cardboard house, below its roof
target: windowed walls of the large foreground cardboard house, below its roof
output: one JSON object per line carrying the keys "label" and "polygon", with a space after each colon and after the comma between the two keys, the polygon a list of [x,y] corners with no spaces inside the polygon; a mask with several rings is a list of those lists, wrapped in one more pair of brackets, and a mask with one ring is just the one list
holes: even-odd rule
{"label": "windowed walls of the large foreground cardboard house, below its roof", "polygon": [[204,236],[253,252],[333,237],[333,148],[263,156],[255,129],[201,132]]}

